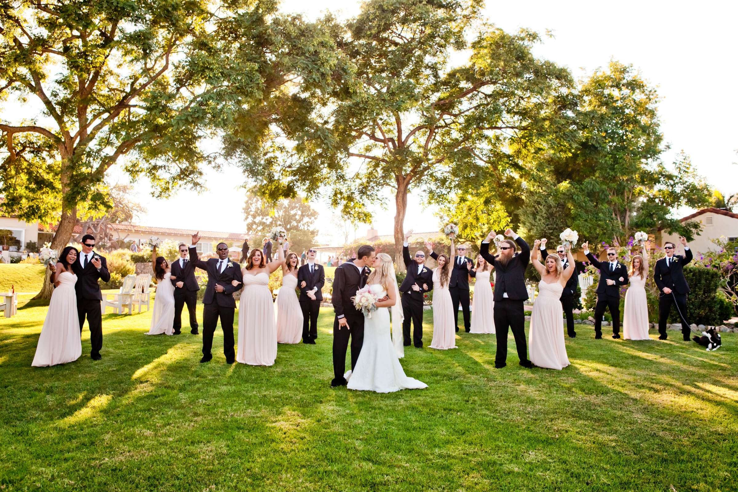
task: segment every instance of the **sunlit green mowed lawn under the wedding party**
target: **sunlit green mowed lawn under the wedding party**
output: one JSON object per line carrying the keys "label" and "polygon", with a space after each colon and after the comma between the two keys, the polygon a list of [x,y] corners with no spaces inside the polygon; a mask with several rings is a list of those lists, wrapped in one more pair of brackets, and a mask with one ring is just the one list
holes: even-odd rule
{"label": "sunlit green mowed lawn under the wedding party", "polygon": [[578,326],[562,371],[518,366],[511,336],[495,370],[494,336],[461,333],[456,350],[408,347],[401,363],[428,389],[380,395],[329,387],[330,309],[317,345],[280,345],[273,367],[226,364],[221,332],[199,364],[201,336],[145,336],[148,313],[108,313],[102,361],[85,327],[78,361],[32,368],[45,313],[0,318],[3,491],[737,488],[731,333],[708,353],[677,332]]}

